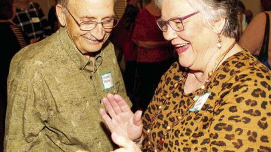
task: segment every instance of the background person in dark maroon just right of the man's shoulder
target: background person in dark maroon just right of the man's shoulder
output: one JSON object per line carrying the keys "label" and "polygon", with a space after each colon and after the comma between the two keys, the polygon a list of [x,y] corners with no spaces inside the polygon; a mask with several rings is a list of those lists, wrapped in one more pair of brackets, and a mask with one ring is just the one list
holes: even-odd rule
{"label": "background person in dark maroon just right of the man's shoulder", "polygon": [[[135,18],[137,17],[140,9],[140,0],[127,0],[124,13],[119,23],[112,29],[108,38],[115,46],[123,50],[125,61],[123,79],[127,95],[133,102],[133,109],[137,107],[134,102],[135,71],[137,70],[137,45],[131,40],[131,36],[135,25]],[[121,53],[121,50],[119,52]]]}

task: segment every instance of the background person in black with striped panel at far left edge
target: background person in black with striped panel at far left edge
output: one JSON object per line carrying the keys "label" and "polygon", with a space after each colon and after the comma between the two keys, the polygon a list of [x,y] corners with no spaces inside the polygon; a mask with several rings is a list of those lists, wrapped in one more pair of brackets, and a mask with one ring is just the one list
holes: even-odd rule
{"label": "background person in black with striped panel at far left edge", "polygon": [[[24,31],[12,21],[16,16],[16,4],[13,0],[0,1],[0,44],[3,47],[0,64],[2,65],[0,80],[0,142],[4,142],[5,117],[7,108],[7,78],[12,57],[23,47],[30,44],[30,39]],[[3,144],[0,144],[3,151]]]}

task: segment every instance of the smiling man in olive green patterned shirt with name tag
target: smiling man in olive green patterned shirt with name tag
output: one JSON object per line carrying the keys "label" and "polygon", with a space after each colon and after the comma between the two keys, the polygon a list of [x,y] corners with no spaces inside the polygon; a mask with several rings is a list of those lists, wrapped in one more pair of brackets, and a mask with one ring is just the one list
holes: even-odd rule
{"label": "smiling man in olive green patterned shirt with name tag", "polygon": [[[8,78],[5,151],[109,151],[101,99],[128,99],[107,38],[116,0],[58,0],[61,27],[17,53]],[[110,132],[110,131],[109,131]]]}

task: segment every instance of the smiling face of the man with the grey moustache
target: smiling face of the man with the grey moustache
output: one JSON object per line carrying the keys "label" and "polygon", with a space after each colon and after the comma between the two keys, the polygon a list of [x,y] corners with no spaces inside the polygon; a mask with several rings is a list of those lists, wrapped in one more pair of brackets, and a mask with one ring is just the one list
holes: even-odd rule
{"label": "smiling face of the man with the grey moustache", "polygon": [[[115,15],[114,0],[70,0],[68,9],[79,24],[83,21],[103,22]],[[98,23],[92,30],[81,30],[71,14],[67,14],[65,28],[75,46],[82,54],[100,50],[112,29],[105,29]]]}

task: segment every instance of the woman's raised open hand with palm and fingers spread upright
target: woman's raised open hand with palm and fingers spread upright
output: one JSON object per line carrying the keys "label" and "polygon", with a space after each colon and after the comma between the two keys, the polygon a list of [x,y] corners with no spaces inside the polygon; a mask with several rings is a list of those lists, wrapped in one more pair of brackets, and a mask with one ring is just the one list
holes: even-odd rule
{"label": "woman's raised open hand with palm and fingers spread upright", "polygon": [[116,132],[129,140],[139,142],[143,130],[142,111],[139,110],[133,114],[129,105],[118,94],[108,93],[106,97],[102,99],[102,102],[110,116],[102,108],[100,114],[110,131]]}

